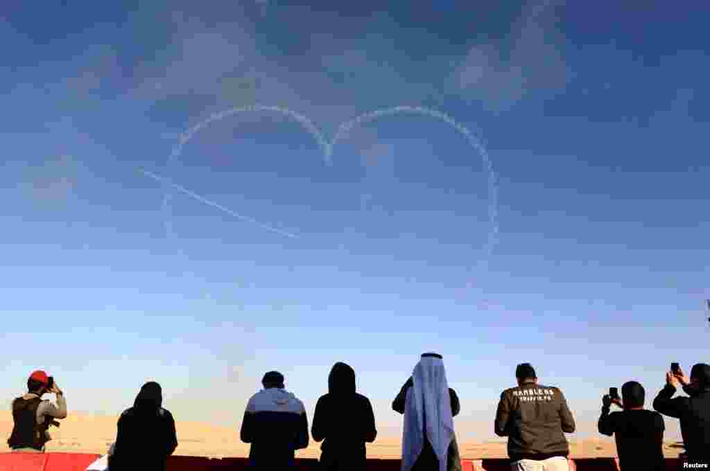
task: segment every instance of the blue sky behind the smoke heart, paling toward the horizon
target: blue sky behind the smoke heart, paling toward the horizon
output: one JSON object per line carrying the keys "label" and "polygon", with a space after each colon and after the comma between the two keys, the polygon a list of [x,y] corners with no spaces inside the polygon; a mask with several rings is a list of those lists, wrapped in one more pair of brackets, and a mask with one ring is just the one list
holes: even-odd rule
{"label": "blue sky behind the smoke heart, paling toward the horizon", "polygon": [[[312,414],[345,361],[398,435],[391,400],[436,350],[459,436],[493,438],[524,361],[594,436],[609,386],[638,379],[650,406],[670,362],[708,361],[709,9],[62,3],[0,22],[8,401],[42,367],[70,409],[113,415],[156,379],[178,420],[237,427],[263,372]],[[254,104],[326,139],[446,113],[497,200],[481,153],[416,114],[352,128],[328,164],[293,118],[238,113],[169,160]],[[163,207],[141,168],[298,238]]]}

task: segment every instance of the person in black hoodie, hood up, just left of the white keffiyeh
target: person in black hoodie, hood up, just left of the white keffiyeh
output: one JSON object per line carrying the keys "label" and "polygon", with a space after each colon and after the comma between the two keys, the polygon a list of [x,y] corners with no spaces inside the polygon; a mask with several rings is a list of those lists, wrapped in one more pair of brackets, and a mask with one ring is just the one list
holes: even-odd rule
{"label": "person in black hoodie, hood up, just left of the white keffiyeh", "polygon": [[365,443],[377,437],[370,400],[355,392],[355,371],[337,362],[328,375],[328,393],[315,405],[311,435],[321,445],[324,471],[365,469]]}

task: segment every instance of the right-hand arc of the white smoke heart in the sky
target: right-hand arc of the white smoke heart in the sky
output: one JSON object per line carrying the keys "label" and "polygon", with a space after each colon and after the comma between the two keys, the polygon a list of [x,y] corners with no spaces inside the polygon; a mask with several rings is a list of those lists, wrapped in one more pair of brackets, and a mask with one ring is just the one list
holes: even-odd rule
{"label": "right-hand arc of the white smoke heart in the sky", "polygon": [[375,121],[378,118],[384,116],[393,116],[395,114],[410,113],[418,114],[421,116],[428,116],[430,118],[435,118],[439,121],[452,126],[459,134],[463,135],[474,150],[476,150],[484,160],[484,165],[488,171],[488,194],[490,195],[490,202],[488,204],[488,218],[491,222],[491,232],[488,235],[488,243],[486,244],[486,255],[488,257],[493,253],[493,247],[496,245],[498,238],[498,187],[496,184],[496,173],[493,172],[493,162],[491,157],[488,156],[486,148],[481,144],[480,140],[476,138],[474,133],[471,133],[466,126],[458,123],[453,118],[448,116],[446,113],[437,111],[434,109],[425,108],[423,106],[393,106],[392,108],[380,109],[376,111],[369,111],[368,113],[363,113],[356,118],[342,123],[338,127],[338,131],[335,133],[333,139],[327,144],[326,156],[328,159],[331,158],[333,148],[352,128],[359,126],[362,123],[367,123],[369,121]]}

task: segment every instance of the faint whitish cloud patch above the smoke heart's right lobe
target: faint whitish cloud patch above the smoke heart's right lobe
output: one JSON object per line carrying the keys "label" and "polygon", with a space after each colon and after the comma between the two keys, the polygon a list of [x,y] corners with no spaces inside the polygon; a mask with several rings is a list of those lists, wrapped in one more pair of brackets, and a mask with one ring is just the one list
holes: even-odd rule
{"label": "faint whitish cloud patch above the smoke heart's right lobe", "polygon": [[559,0],[528,4],[508,40],[471,48],[456,70],[464,96],[501,111],[530,93],[564,89],[570,71],[562,54],[564,38],[555,27],[559,4]]}

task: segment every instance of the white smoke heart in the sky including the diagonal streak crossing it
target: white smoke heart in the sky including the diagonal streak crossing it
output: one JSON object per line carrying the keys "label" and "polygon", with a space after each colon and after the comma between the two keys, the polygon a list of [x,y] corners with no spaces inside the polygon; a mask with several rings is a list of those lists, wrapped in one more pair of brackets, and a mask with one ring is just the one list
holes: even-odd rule
{"label": "white smoke heart in the sky including the diagonal streak crossing it", "polygon": [[[466,141],[469,143],[471,148],[476,150],[481,157],[484,160],[484,166],[486,167],[486,170],[488,171],[488,193],[490,196],[490,201],[488,204],[488,215],[490,218],[491,222],[491,231],[489,232],[488,235],[488,243],[486,244],[486,256],[490,257],[491,253],[493,252],[493,246],[496,244],[497,240],[497,235],[498,235],[498,188],[496,185],[496,174],[493,172],[493,162],[491,161],[491,158],[488,156],[488,152],[486,152],[486,148],[484,148],[484,145],[481,144],[480,140],[476,138],[474,133],[471,133],[466,126],[463,126],[461,123],[458,121],[455,121],[453,118],[451,118],[449,115],[446,113],[442,113],[441,111],[437,111],[434,109],[429,109],[425,108],[423,106],[393,106],[391,108],[387,109],[380,109],[376,111],[370,111],[368,113],[363,113],[360,116],[357,116],[354,119],[351,119],[350,121],[347,121],[345,123],[340,124],[338,127],[337,132],[335,133],[333,139],[328,142],[326,138],[324,138],[323,133],[321,133],[320,129],[315,126],[315,124],[307,118],[307,116],[302,115],[300,113],[296,113],[295,111],[292,111],[287,108],[283,108],[281,106],[266,106],[266,105],[251,105],[251,106],[241,106],[237,108],[232,108],[226,111],[222,111],[220,113],[214,113],[209,118],[205,119],[204,121],[201,121],[200,123],[197,123],[195,126],[192,128],[188,129],[185,131],[185,133],[182,133],[180,135],[180,140],[178,142],[178,145],[175,146],[173,149],[173,152],[170,154],[170,157],[168,157],[168,163],[166,165],[168,169],[168,173],[170,170],[170,167],[173,165],[173,162],[177,157],[180,156],[182,153],[182,148],[185,146],[187,141],[189,141],[197,132],[202,130],[203,128],[209,126],[209,124],[212,124],[217,121],[221,121],[224,118],[228,118],[229,116],[235,116],[237,114],[241,113],[255,113],[255,112],[263,112],[263,111],[271,111],[275,113],[281,113],[284,116],[287,116],[288,118],[293,119],[297,123],[300,123],[305,130],[312,135],[312,137],[315,139],[316,143],[319,145],[321,148],[323,155],[324,155],[324,160],[327,165],[332,165],[332,155],[333,155],[333,148],[334,146],[343,138],[346,137],[346,135],[351,131],[352,128],[359,126],[363,123],[367,123],[370,121],[375,121],[378,118],[383,118],[385,116],[393,116],[393,115],[398,115],[398,114],[418,114],[421,116],[427,116],[429,118],[435,118],[437,121],[442,121],[444,123],[447,123],[449,126],[452,126],[454,130],[457,131],[460,135],[462,135]],[[143,171],[143,173],[146,173]],[[156,178],[158,177],[155,174],[148,174],[148,176]],[[165,196],[163,196],[163,212],[165,214],[165,230],[168,233],[168,236],[173,234],[172,227],[171,227],[171,217],[170,217],[170,199],[172,199],[173,193],[170,192],[170,188],[178,189],[179,191],[192,196],[193,198],[197,199],[198,201],[202,201],[205,204],[209,204],[210,206],[214,206],[218,209],[221,209],[222,211],[226,212],[227,214],[231,214],[232,216],[235,216],[237,218],[240,218],[243,221],[249,221],[251,223],[255,223],[258,226],[261,226],[262,228],[267,229],[268,231],[273,231],[276,233],[280,233],[282,235],[287,235],[288,237],[295,237],[295,235],[291,233],[287,233],[285,231],[280,231],[278,229],[275,229],[271,226],[266,226],[266,224],[259,223],[258,221],[255,221],[251,218],[247,218],[246,216],[241,216],[240,214],[237,214],[234,211],[231,211],[227,208],[225,208],[222,205],[219,205],[215,203],[214,201],[209,201],[208,199],[204,198],[203,196],[200,196],[198,194],[195,194],[194,192],[190,192],[190,190],[186,189],[185,187],[180,187],[180,185],[175,184],[170,181],[169,177],[160,177],[160,181],[163,182],[163,187],[165,189]]]}

